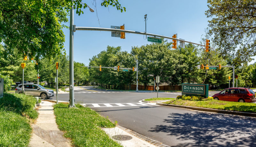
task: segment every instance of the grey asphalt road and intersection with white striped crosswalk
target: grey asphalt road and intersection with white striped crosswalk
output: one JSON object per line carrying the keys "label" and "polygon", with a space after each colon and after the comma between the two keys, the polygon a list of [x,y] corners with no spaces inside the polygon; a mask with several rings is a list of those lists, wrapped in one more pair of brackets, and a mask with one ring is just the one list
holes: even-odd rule
{"label": "grey asphalt road and intersection with white striped crosswalk", "polygon": [[[217,92],[209,92],[212,96]],[[181,93],[158,93],[175,98]],[[120,92],[76,88],[76,103],[82,103],[118,125],[169,146],[256,146],[256,118],[201,112],[184,108],[143,104],[156,97],[152,92]],[[56,96],[53,97],[56,99]],[[59,94],[68,101],[69,94]]]}

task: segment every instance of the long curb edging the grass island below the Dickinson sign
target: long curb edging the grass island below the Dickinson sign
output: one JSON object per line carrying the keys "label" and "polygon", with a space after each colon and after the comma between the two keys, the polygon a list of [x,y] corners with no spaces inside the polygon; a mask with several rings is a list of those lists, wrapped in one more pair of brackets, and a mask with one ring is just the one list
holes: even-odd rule
{"label": "long curb edging the grass island below the Dickinson sign", "polygon": [[191,107],[191,106],[183,106],[183,105],[175,105],[175,104],[163,104],[163,103],[156,103],[156,104],[164,105],[164,106],[171,106],[171,107],[187,108],[187,109],[193,109],[193,110],[199,110],[199,111],[208,111],[208,112],[217,112],[217,113],[235,114],[235,115],[256,117],[256,113],[250,113],[250,112],[218,110],[218,109],[211,109],[211,108]]}

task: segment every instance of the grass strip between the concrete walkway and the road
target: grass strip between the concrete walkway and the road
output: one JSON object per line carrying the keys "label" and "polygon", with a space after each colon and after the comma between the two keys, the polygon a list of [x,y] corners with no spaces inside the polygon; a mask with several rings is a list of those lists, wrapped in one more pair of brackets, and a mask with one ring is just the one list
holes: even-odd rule
{"label": "grass strip between the concrete walkway and the road", "polygon": [[101,130],[116,125],[88,107],[77,104],[76,108],[68,108],[68,104],[55,104],[54,114],[59,129],[65,132],[65,137],[72,139],[74,146],[121,147]]}

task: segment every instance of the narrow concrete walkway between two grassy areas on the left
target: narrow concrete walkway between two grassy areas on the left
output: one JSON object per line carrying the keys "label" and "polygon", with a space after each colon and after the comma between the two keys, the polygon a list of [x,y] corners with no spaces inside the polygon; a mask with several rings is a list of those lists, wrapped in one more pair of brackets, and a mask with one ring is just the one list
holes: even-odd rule
{"label": "narrow concrete walkway between two grassy areas on the left", "polygon": [[71,147],[70,141],[63,137],[63,133],[58,129],[53,104],[42,101],[42,106],[37,107],[39,115],[36,123],[32,125],[33,134],[29,147]]}

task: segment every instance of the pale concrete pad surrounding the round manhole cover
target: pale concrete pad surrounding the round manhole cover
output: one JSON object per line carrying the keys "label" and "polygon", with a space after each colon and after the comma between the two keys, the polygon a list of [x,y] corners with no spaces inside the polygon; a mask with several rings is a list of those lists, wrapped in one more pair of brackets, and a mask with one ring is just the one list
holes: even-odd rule
{"label": "pale concrete pad surrounding the round manhole cover", "polygon": [[153,144],[150,144],[144,140],[141,140],[140,138],[137,138],[127,132],[125,132],[124,130],[118,128],[118,127],[115,127],[115,128],[103,128],[102,130],[104,130],[109,136],[110,138],[112,138],[112,136],[115,136],[115,135],[128,135],[128,136],[131,136],[132,139],[130,140],[126,140],[126,141],[120,141],[120,140],[115,140],[116,142],[120,143],[121,145],[123,146],[132,146],[132,147],[156,147],[155,145]]}

